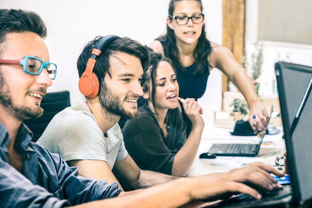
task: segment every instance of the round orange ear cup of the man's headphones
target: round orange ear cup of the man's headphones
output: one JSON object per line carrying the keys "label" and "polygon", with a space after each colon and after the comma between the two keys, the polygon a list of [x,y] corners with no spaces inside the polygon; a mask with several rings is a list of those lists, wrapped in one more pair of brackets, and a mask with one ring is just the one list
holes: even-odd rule
{"label": "round orange ear cup of the man's headphones", "polygon": [[78,87],[82,95],[93,99],[97,97],[100,91],[99,80],[96,74],[86,70],[78,82]]}

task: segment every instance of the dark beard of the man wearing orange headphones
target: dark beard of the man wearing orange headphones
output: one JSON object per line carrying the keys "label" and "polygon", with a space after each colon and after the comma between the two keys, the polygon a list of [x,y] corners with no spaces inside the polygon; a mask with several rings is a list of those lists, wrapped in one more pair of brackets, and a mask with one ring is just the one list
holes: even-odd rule
{"label": "dark beard of the man wearing orange headphones", "polygon": [[105,111],[126,119],[136,119],[140,116],[140,111],[138,109],[134,113],[126,111],[120,102],[119,97],[114,95],[104,82],[101,84],[100,104]]}

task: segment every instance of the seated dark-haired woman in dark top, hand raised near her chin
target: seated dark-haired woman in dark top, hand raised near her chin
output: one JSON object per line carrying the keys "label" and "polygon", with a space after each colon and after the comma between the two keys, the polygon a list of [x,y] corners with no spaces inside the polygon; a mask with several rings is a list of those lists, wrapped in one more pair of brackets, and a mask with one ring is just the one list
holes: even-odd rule
{"label": "seated dark-haired woman in dark top, hand raised near her chin", "polygon": [[179,108],[179,85],[171,62],[160,53],[150,51],[150,55],[150,69],[142,82],[141,115],[128,120],[123,127],[125,145],[141,169],[185,176],[195,159],[204,128],[202,108],[194,99],[182,102],[193,126],[187,137]]}

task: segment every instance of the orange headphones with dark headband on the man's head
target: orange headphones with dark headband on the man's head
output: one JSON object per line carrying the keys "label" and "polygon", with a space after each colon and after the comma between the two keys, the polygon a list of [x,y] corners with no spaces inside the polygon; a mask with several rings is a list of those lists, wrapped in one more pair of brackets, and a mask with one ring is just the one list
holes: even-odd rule
{"label": "orange headphones with dark headband on the man's head", "polygon": [[98,57],[102,50],[105,48],[107,44],[110,42],[119,39],[120,37],[117,35],[107,35],[99,39],[95,47],[92,49],[91,57],[87,62],[86,69],[84,73],[81,75],[78,87],[82,95],[87,98],[93,99],[99,95],[100,92],[100,82],[95,73],[93,73],[93,68],[96,62],[96,57]]}

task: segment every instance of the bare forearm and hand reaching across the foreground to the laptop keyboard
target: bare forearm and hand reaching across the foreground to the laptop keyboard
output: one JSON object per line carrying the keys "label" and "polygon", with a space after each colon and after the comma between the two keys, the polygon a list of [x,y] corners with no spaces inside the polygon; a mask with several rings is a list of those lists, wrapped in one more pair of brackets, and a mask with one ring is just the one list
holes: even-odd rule
{"label": "bare forearm and hand reaching across the foreground to the laptop keyboard", "polygon": [[93,208],[105,206],[111,208],[173,208],[196,200],[223,199],[236,193],[245,193],[260,199],[261,195],[255,189],[264,192],[282,189],[282,186],[278,185],[268,172],[273,172],[278,177],[284,175],[272,166],[254,163],[228,173],[179,178],[144,190],[121,193],[117,198],[79,205],[76,208],[85,208],[86,206]]}

